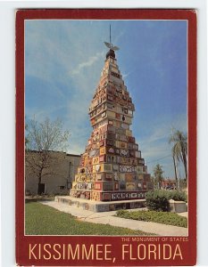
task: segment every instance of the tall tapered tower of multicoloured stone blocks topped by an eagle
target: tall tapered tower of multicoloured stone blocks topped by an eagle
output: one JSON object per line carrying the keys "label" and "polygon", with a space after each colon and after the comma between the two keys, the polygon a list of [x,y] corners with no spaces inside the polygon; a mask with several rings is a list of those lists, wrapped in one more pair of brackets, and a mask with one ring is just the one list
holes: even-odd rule
{"label": "tall tapered tower of multicoloured stone blocks topped by an eagle", "polygon": [[145,198],[153,189],[150,174],[130,130],[135,106],[109,48],[96,93],[89,107],[92,134],[72,183],[71,197],[96,201]]}

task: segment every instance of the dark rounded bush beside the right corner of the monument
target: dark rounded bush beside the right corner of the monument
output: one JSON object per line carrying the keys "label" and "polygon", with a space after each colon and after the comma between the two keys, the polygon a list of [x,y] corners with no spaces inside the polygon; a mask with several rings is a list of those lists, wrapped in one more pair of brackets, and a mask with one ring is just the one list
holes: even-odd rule
{"label": "dark rounded bush beside the right corner of the monument", "polygon": [[170,210],[169,198],[165,190],[153,190],[146,193],[146,206],[149,210],[166,212]]}

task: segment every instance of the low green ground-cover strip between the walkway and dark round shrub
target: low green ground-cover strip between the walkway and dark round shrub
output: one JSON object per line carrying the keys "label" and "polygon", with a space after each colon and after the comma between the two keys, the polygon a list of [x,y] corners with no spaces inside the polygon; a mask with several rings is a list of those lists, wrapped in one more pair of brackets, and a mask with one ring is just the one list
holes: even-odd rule
{"label": "low green ground-cover strip between the walkway and dark round shrub", "polygon": [[116,215],[125,219],[132,219],[137,221],[154,222],[169,224],[179,227],[187,228],[187,218],[180,216],[179,214],[173,214],[169,212],[157,212],[157,211],[132,211],[119,210]]}

